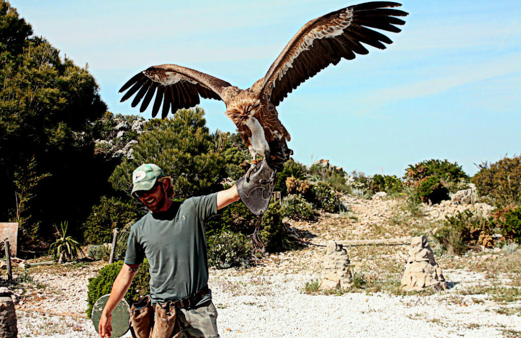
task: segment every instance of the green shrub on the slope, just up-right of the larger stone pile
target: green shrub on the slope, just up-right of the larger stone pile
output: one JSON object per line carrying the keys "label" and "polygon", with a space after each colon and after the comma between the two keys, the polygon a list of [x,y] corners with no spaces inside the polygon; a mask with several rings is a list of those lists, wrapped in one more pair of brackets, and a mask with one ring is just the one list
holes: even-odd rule
{"label": "green shrub on the slope, just up-right of the larger stone pile", "polygon": [[493,224],[488,218],[470,210],[445,216],[443,226],[435,234],[441,247],[456,255],[462,255],[469,245],[478,243],[481,234],[491,234]]}

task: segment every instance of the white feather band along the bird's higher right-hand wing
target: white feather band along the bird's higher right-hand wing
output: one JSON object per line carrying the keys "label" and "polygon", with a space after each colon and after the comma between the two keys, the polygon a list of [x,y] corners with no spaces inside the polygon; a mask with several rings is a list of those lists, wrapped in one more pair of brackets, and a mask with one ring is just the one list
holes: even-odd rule
{"label": "white feather band along the bird's higher right-hand wing", "polygon": [[[326,39],[331,37],[336,37],[343,33],[344,29],[348,28],[353,21],[353,9],[346,8],[344,13],[340,13],[339,19],[336,25],[320,25],[312,29],[309,33],[304,37],[304,41],[299,46],[299,49],[295,51],[293,56],[289,59],[289,61],[282,65],[282,68],[277,72],[277,76],[273,81],[273,88],[275,88],[276,80],[282,79],[289,68],[292,68],[292,64],[294,59],[299,57],[299,55],[308,51],[313,46],[313,41],[316,39]],[[332,30],[332,31],[331,31]]]}

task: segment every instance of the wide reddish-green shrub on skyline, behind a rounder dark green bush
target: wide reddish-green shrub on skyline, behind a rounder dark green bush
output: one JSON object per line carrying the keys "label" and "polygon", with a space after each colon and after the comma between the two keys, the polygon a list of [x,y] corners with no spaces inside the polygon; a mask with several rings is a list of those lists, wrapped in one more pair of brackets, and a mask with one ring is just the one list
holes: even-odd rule
{"label": "wide reddish-green shrub on skyline, behind a rounder dark green bush", "polygon": [[419,181],[429,176],[437,176],[444,181],[458,182],[461,179],[468,178],[461,165],[457,162],[451,163],[447,160],[428,160],[409,165],[405,170],[404,178]]}

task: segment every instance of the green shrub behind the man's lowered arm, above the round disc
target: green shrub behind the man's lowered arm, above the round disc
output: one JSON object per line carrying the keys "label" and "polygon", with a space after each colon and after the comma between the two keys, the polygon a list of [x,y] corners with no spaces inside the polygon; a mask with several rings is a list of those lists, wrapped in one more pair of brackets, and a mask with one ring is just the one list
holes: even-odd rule
{"label": "green shrub behind the man's lowered arm, above the round disc", "polygon": [[[87,316],[89,318],[91,318],[92,306],[96,303],[96,300],[110,293],[122,266],[123,261],[108,264],[100,269],[96,277],[89,279],[87,294],[87,301],[89,303]],[[125,294],[125,299],[129,304],[133,304],[145,295],[150,294],[150,273],[148,269],[150,269],[150,265],[148,265],[148,260],[145,259]]]}

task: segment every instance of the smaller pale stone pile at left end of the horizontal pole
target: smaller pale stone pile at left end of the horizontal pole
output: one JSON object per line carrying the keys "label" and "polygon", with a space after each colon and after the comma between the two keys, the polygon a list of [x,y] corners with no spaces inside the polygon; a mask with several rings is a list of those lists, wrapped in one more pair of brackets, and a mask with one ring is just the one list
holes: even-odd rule
{"label": "smaller pale stone pile at left end of the horizontal pole", "polygon": [[332,288],[348,288],[351,282],[351,270],[349,269],[348,251],[341,245],[331,240],[326,250],[324,259],[324,278],[318,285],[320,290]]}

